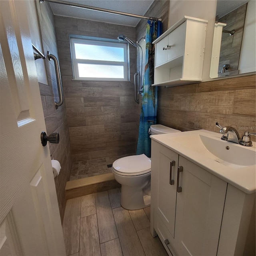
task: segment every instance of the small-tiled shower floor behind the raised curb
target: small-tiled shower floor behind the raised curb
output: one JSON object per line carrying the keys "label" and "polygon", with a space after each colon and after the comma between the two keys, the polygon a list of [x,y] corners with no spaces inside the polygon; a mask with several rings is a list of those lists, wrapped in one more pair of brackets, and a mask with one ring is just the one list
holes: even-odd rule
{"label": "small-tiled shower floor behind the raised curb", "polygon": [[113,162],[116,159],[124,156],[128,156],[128,154],[122,156],[112,156],[106,158],[73,162],[69,180],[78,180],[100,174],[110,173],[111,165],[113,164]]}

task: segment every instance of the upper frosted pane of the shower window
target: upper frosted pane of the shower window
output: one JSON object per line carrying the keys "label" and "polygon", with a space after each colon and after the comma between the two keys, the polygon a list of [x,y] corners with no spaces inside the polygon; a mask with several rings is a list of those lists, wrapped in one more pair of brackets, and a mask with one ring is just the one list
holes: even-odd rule
{"label": "upper frosted pane of the shower window", "polygon": [[74,44],[77,59],[124,61],[124,48],[91,44]]}

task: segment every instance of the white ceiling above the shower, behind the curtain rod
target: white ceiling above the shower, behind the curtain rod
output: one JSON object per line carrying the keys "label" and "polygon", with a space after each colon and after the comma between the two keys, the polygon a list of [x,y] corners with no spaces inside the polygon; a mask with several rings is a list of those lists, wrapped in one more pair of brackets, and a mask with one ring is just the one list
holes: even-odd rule
{"label": "white ceiling above the shower, behind the curtain rod", "polygon": [[[154,0],[67,0],[65,2],[73,2],[87,6],[144,16]],[[50,3],[50,6],[53,14],[57,16],[95,20],[132,27],[136,27],[138,22],[140,22],[140,18],[108,14],[105,12],[86,10],[63,4]]]}

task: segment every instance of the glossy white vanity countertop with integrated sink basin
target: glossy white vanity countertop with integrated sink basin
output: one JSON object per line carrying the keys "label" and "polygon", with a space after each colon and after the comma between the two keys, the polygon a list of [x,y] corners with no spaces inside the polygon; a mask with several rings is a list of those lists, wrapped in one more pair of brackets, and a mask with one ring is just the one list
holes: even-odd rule
{"label": "glossy white vanity countertop with integrated sink basin", "polygon": [[221,140],[206,130],[150,136],[246,193],[256,191],[256,148]]}

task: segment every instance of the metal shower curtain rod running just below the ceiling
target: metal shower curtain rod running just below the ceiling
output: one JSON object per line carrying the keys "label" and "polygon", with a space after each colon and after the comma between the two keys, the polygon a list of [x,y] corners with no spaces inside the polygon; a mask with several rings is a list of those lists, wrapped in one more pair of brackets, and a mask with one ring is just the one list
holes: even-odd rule
{"label": "metal shower curtain rod running just below the ceiling", "polygon": [[117,11],[114,11],[114,10],[98,8],[98,7],[88,6],[88,5],[84,5],[84,4],[76,4],[76,3],[66,2],[66,1],[40,0],[40,2],[52,2],[52,3],[56,3],[56,4],[64,4],[64,5],[68,5],[68,6],[74,6],[74,7],[84,8],[84,9],[88,9],[88,10],[94,10],[94,11],[98,11],[98,12],[108,12],[108,13],[117,14],[117,15],[130,16],[130,17],[140,18],[140,19],[144,19],[144,20],[162,21],[162,18],[145,17],[145,16],[140,16],[140,15],[137,15],[137,14],[130,14],[130,13],[126,13],[126,12],[117,12]]}

